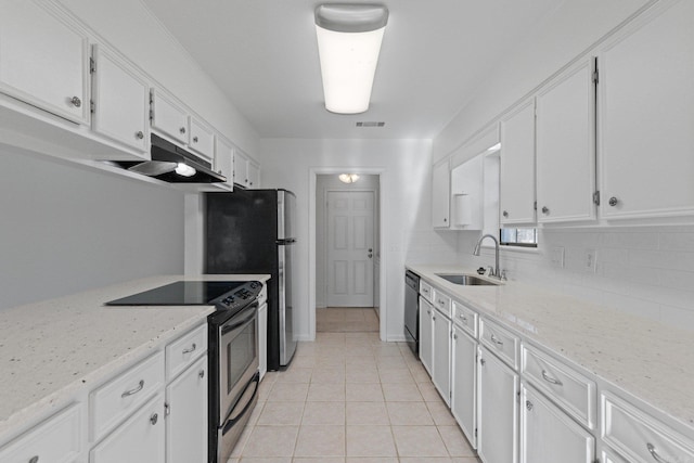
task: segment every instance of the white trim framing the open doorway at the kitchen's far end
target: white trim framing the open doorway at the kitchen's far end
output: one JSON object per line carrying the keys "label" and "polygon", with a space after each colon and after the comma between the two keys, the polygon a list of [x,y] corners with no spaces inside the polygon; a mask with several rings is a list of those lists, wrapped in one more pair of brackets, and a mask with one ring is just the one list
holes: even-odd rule
{"label": "white trim framing the open doorway at the kitchen's far end", "polygon": [[311,167],[309,168],[308,195],[308,306],[309,306],[309,337],[316,339],[316,189],[319,175],[337,175],[346,171],[352,173],[378,176],[378,249],[381,250],[378,300],[381,317],[378,317],[378,335],[381,340],[387,340],[388,305],[386,268],[388,263],[388,223],[384,220],[388,210],[388,202],[384,191],[389,181],[388,171],[383,167]]}

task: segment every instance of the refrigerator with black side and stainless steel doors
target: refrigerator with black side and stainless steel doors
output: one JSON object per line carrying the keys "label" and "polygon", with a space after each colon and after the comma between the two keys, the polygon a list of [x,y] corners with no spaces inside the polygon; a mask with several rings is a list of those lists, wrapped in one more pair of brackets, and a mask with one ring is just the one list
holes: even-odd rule
{"label": "refrigerator with black side and stainless steel doors", "polygon": [[292,262],[296,196],[287,190],[205,194],[205,272],[269,273],[268,370],[296,350]]}

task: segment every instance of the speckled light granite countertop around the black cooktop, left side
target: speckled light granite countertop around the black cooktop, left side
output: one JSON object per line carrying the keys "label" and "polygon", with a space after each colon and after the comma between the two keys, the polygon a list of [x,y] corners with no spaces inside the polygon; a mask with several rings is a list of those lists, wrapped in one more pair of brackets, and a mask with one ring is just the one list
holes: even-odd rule
{"label": "speckled light granite countertop around the black cooktop, left side", "polygon": [[93,389],[214,312],[213,306],[108,307],[105,301],[180,280],[269,278],[151,276],[0,310],[0,438]]}

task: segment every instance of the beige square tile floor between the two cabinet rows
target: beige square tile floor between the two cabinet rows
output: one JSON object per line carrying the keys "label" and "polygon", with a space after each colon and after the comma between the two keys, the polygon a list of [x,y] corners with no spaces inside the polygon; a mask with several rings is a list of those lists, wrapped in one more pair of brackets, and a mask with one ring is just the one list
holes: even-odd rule
{"label": "beige square tile floor between the two cabinet rows", "polygon": [[265,376],[229,463],[478,463],[407,345],[331,329]]}

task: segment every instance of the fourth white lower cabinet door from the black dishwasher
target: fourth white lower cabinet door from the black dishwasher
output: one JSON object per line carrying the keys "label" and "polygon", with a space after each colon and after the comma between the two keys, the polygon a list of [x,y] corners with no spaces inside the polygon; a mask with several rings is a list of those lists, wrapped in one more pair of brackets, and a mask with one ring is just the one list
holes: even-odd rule
{"label": "fourth white lower cabinet door from the black dishwasher", "polygon": [[518,461],[517,395],[518,375],[483,347],[479,358],[477,452],[485,463]]}

